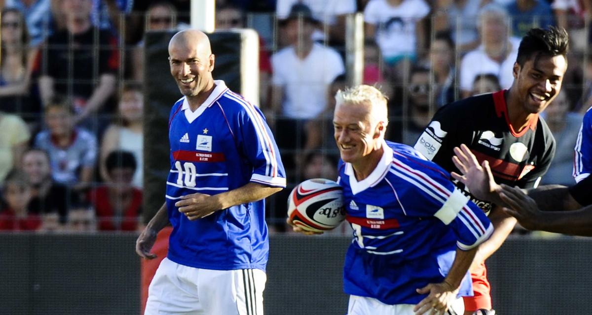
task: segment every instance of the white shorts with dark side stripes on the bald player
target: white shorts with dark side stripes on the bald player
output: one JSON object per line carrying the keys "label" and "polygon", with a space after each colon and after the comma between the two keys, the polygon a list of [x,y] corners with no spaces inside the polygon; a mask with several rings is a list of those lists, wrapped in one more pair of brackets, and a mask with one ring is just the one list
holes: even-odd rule
{"label": "white shorts with dark side stripes on the bald player", "polygon": [[200,269],[165,258],[150,282],[144,315],[263,315],[266,281],[260,269]]}

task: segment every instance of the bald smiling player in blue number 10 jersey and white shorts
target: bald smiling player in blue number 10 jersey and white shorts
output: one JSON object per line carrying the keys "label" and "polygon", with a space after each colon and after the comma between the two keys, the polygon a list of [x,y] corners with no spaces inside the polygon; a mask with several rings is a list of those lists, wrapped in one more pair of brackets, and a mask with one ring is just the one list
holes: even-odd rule
{"label": "bald smiling player in blue number 10 jersey and white shorts", "polygon": [[184,96],[170,111],[166,202],[137,239],[137,254],[155,258],[157,233],[169,222],[173,231],[145,314],[263,314],[263,199],[286,184],[274,137],[258,108],[213,79],[207,35],[175,34],[169,63]]}

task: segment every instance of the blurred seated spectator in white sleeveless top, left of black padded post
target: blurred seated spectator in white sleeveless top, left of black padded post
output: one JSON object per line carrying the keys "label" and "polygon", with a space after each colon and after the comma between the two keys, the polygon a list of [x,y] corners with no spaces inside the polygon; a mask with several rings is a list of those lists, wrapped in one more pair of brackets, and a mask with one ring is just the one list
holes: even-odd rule
{"label": "blurred seated spectator in white sleeveless top, left of black padded post", "polygon": [[100,165],[103,180],[110,179],[105,167],[107,156],[115,150],[126,150],[132,152],[136,158],[137,170],[134,174],[133,184],[136,187],[142,187],[143,113],[142,86],[127,83],[121,92],[119,119],[107,128],[102,139]]}

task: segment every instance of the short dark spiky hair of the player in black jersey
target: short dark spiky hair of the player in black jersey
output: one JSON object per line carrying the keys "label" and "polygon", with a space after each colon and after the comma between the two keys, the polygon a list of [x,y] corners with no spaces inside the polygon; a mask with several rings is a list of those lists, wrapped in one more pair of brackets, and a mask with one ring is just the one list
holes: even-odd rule
{"label": "short dark spiky hair of the player in black jersey", "polygon": [[[520,41],[516,62],[524,66],[526,61],[539,56],[564,56],[569,47],[567,31],[561,27],[532,28]],[[566,59],[567,61],[567,59]]]}

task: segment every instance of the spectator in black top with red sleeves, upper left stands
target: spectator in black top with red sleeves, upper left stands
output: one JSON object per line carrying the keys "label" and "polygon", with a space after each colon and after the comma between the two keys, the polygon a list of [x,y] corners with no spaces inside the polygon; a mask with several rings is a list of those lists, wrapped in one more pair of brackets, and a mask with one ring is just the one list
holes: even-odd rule
{"label": "spectator in black top with red sleeves, upper left stands", "polygon": [[56,94],[71,98],[78,123],[114,106],[111,96],[120,57],[117,38],[92,25],[92,0],[63,0],[61,9],[66,29],[47,38],[37,55],[34,74],[44,105]]}

